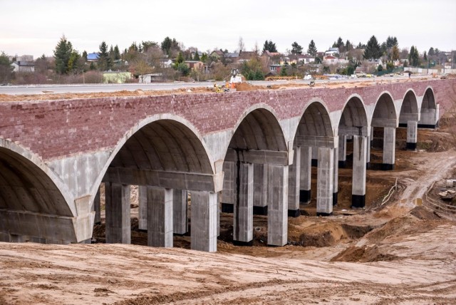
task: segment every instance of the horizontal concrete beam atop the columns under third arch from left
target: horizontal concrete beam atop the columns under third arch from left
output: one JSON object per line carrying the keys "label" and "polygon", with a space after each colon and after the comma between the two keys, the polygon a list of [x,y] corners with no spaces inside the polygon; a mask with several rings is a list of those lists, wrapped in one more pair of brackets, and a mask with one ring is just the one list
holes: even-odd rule
{"label": "horizontal concrete beam atop the columns under third arch from left", "polygon": [[275,150],[234,150],[229,148],[225,162],[246,162],[256,164],[289,165],[291,152]]}

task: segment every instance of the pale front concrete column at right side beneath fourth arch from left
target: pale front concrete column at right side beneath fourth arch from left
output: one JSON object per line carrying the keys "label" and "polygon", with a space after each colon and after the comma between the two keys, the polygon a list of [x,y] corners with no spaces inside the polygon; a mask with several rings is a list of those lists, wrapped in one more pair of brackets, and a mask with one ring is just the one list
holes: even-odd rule
{"label": "pale front concrete column at right side beneath fourth arch from left", "polygon": [[318,148],[318,176],[316,182],[316,214],[329,216],[333,213],[334,149]]}

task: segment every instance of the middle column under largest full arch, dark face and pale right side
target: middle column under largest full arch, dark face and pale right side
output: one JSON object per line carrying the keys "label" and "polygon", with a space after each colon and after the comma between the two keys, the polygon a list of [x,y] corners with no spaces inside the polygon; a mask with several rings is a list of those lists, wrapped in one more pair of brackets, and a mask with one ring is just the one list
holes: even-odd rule
{"label": "middle column under largest full arch, dark face and pale right side", "polygon": [[172,247],[172,190],[147,187],[147,246]]}

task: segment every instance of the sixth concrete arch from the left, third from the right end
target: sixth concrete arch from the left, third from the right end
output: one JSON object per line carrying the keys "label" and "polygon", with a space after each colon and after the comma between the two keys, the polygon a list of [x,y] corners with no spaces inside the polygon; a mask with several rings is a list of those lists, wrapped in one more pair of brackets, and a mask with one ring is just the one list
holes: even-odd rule
{"label": "sixth concrete arch from the left, third from the right end", "polygon": [[370,121],[373,127],[397,127],[398,114],[391,93],[383,91],[378,95]]}

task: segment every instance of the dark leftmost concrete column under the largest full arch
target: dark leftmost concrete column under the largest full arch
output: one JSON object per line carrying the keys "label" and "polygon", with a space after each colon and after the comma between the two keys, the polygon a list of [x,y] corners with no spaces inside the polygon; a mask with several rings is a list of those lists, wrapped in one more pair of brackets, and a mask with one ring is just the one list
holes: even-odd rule
{"label": "dark leftmost concrete column under the largest full arch", "polygon": [[130,244],[130,185],[105,182],[106,244]]}

